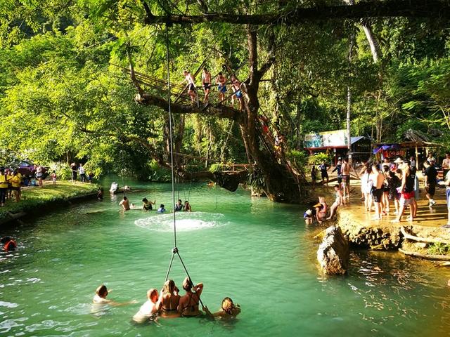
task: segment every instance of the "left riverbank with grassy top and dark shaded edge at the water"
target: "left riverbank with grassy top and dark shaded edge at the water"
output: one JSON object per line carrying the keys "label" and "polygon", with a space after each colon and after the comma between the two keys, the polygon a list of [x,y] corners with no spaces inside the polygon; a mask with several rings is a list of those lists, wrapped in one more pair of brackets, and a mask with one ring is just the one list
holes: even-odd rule
{"label": "left riverbank with grassy top and dark shaded edge at the water", "polygon": [[49,211],[61,204],[70,204],[75,200],[96,197],[98,185],[89,183],[72,183],[58,181],[53,185],[51,181],[44,181],[43,187],[23,187],[22,199],[19,202],[8,199],[6,205],[0,208],[0,225],[25,216],[36,216]]}

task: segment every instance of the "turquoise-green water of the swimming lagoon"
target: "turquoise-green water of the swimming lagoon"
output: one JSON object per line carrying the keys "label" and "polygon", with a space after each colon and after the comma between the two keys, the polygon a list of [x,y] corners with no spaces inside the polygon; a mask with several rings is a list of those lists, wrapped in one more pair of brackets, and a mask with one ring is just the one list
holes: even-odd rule
{"label": "turquoise-green water of the swimming lagoon", "polygon": [[[169,185],[129,183],[129,194],[172,204]],[[106,188],[108,190],[108,188]],[[398,253],[352,253],[349,275],[323,279],[316,269],[313,229],[303,208],[250,199],[205,185],[181,185],[193,213],[178,218],[181,257],[203,282],[212,310],[230,296],[236,322],[160,319],[136,326],[131,317],[146,291],[161,288],[172,256],[172,214],[119,211],[120,196],[77,204],[4,229],[19,249],[0,255],[1,336],[447,336],[450,272]],[[184,279],[179,260],[171,278]],[[108,298],[139,303],[92,312],[96,287]],[[180,287],[181,288],[181,287]]]}

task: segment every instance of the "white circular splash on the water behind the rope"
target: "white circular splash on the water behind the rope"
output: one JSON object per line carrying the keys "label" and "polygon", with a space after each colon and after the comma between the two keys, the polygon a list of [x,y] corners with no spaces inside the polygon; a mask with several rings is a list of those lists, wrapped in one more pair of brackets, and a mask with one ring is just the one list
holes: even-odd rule
{"label": "white circular splash on the water behind the rope", "polygon": [[[176,230],[179,232],[187,232],[190,230],[220,227],[226,225],[224,218],[224,214],[220,213],[177,213]],[[139,219],[134,224],[148,230],[154,230],[155,232],[172,232],[174,230],[172,213]]]}

